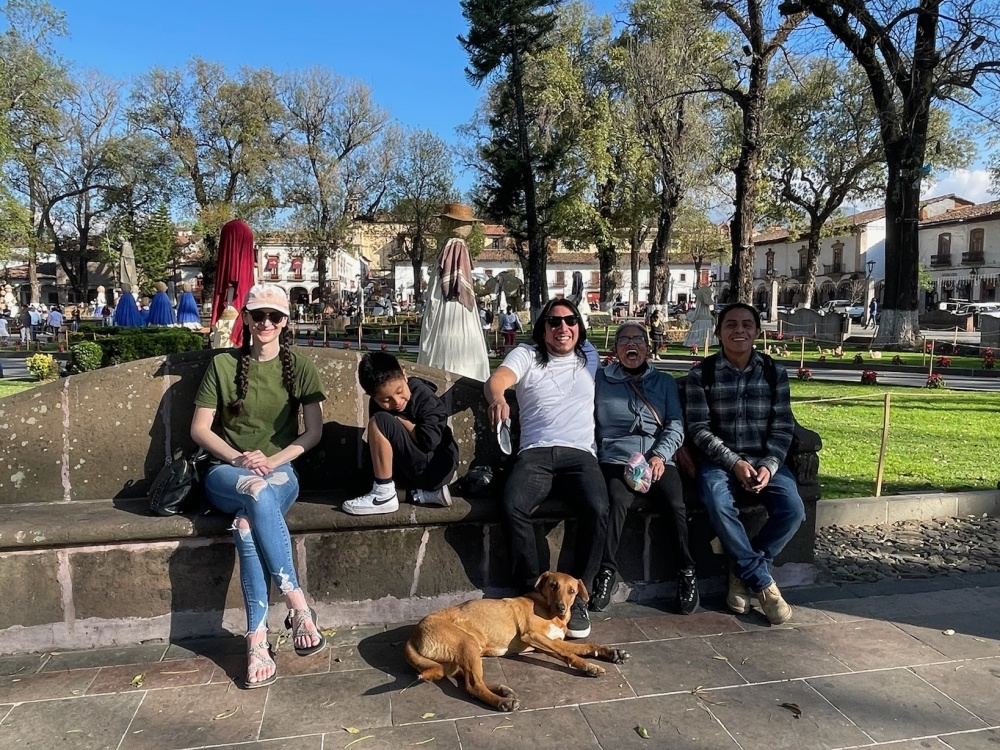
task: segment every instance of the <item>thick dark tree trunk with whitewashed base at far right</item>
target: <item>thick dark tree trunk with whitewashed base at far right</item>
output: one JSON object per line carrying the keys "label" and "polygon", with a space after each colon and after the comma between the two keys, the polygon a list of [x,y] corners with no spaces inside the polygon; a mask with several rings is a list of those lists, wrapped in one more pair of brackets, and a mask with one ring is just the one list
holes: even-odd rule
{"label": "thick dark tree trunk with whitewashed base at far right", "polygon": [[[885,290],[882,297],[875,346],[917,345],[918,276],[917,231],[920,218],[920,162],[912,144],[899,149],[897,158],[887,149],[888,181],[885,199]],[[909,168],[907,168],[909,166]]]}

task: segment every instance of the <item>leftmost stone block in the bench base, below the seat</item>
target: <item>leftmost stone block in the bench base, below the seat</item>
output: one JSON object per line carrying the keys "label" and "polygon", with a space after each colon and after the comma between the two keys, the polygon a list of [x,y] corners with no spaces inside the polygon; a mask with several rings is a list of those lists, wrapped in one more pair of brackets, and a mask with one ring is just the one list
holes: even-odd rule
{"label": "leftmost stone block in the bench base, below the seat", "polygon": [[44,625],[64,618],[59,558],[51,550],[0,554],[0,630]]}

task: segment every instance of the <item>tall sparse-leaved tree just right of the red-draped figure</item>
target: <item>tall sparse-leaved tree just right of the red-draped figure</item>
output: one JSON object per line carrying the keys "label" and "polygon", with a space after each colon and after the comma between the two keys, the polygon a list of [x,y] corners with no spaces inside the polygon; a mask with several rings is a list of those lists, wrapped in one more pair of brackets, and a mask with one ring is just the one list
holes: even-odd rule
{"label": "tall sparse-leaved tree just right of the red-draped figure", "polygon": [[292,225],[304,249],[316,256],[327,297],[328,259],[343,245],[354,216],[374,213],[385,195],[385,159],[395,153],[383,142],[389,116],[367,86],[324,68],[286,75],[280,99],[288,130],[283,202],[294,209]]}

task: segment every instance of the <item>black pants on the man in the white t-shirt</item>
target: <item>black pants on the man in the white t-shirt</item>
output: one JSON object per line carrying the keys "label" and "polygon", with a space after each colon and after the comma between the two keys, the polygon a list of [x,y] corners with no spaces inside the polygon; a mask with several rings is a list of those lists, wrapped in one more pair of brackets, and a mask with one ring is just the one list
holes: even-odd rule
{"label": "black pants on the man in the white t-shirt", "polygon": [[521,451],[504,485],[503,509],[514,583],[525,591],[541,575],[531,515],[554,486],[576,510],[576,550],[570,574],[589,589],[604,555],[608,493],[597,459],[576,448]]}

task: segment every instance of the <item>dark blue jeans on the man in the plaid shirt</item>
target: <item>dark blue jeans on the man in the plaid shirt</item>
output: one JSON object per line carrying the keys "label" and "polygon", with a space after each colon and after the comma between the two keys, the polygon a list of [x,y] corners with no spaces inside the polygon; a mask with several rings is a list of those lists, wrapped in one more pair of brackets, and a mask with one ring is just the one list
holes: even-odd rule
{"label": "dark blue jeans on the man in the plaid shirt", "polygon": [[767,487],[756,495],[767,509],[767,522],[753,541],[740,523],[735,499],[739,495],[754,497],[753,493],[744,490],[731,471],[710,461],[699,467],[698,483],[701,501],[708,510],[712,527],[719,535],[723,549],[736,564],[736,575],[743,579],[750,591],[763,591],[774,581],[771,577],[774,558],[785,548],[806,517],[792,473],[788,467],[782,466],[771,477]]}

